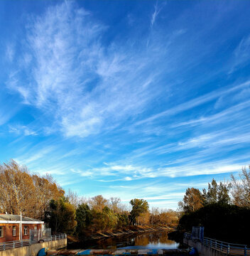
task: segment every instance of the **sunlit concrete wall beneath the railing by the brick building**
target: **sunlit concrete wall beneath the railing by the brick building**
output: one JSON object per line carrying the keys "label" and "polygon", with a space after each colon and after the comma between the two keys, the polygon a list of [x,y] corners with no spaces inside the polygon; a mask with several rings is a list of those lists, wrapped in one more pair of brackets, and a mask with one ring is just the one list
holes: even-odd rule
{"label": "sunlit concrete wall beneath the railing by the brick building", "polygon": [[41,242],[31,246],[9,249],[0,252],[0,256],[36,256],[40,249],[60,249],[67,246],[67,238],[50,242]]}

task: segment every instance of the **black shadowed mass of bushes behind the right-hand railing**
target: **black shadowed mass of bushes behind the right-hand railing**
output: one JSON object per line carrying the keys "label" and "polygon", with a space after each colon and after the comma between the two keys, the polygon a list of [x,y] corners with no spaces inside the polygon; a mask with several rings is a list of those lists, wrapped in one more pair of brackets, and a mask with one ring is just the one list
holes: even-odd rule
{"label": "black shadowed mass of bushes behind the right-hand railing", "polygon": [[205,227],[205,236],[221,241],[249,243],[250,209],[229,204],[210,203],[183,215],[178,230],[191,232],[192,226]]}

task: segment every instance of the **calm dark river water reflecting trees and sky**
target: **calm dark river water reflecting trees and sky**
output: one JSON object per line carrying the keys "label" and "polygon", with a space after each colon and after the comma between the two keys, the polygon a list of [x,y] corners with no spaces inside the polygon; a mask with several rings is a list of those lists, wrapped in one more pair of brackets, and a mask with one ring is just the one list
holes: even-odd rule
{"label": "calm dark river water reflecting trees and sky", "polygon": [[168,232],[157,231],[138,235],[123,235],[94,242],[68,245],[68,249],[175,249],[179,243],[168,239]]}

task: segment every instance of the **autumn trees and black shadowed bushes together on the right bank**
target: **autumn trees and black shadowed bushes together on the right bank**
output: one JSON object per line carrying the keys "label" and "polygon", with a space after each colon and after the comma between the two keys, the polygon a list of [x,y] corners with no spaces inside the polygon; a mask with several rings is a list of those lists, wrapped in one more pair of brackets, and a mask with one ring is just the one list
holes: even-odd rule
{"label": "autumn trees and black shadowed bushes together on the right bank", "polygon": [[225,242],[249,244],[250,167],[230,181],[212,179],[207,189],[187,188],[178,203],[182,213],[178,231],[191,232],[192,226],[204,226],[205,236]]}

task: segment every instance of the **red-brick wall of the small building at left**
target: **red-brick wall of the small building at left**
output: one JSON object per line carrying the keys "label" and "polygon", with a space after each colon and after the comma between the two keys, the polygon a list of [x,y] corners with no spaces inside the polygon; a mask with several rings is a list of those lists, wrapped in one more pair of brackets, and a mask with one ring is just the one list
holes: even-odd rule
{"label": "red-brick wall of the small building at left", "polygon": [[[16,226],[16,236],[12,235],[13,226]],[[28,235],[24,235],[24,226],[28,226]],[[0,238],[0,242],[9,242],[19,240],[19,223],[16,224],[0,224],[0,227],[4,227],[4,238]],[[23,240],[30,238],[30,230],[41,229],[42,224],[22,224]]]}

